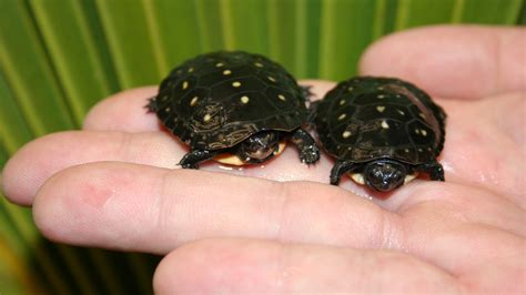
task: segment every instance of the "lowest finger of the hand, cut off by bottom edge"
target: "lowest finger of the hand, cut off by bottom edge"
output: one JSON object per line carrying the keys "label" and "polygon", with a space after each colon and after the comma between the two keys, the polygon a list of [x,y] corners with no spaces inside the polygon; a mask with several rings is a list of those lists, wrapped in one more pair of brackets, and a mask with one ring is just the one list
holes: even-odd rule
{"label": "lowest finger of the hand, cut off by bottom edge", "polygon": [[468,291],[446,272],[403,253],[253,240],[182,246],[163,258],[153,283],[156,294]]}

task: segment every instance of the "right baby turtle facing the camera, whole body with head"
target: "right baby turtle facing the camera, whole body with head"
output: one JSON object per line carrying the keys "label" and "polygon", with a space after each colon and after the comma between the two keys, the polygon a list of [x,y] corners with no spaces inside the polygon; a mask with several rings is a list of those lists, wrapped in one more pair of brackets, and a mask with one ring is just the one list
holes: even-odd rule
{"label": "right baby turtle facing the camera, whole body with head", "polygon": [[412,83],[373,77],[338,83],[315,106],[320,141],[336,157],[331,184],[344,173],[381,192],[418,172],[444,181],[436,156],[444,146],[445,119],[442,108]]}

